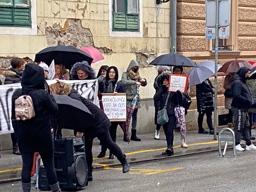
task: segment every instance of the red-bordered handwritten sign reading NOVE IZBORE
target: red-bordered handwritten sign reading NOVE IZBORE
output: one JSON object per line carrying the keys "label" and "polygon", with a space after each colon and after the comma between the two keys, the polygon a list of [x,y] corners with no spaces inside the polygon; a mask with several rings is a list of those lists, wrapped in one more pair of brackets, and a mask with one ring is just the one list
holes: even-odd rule
{"label": "red-bordered handwritten sign reading NOVE IZBORE", "polygon": [[188,75],[170,74],[168,91],[176,92],[179,90],[186,93],[188,88]]}

